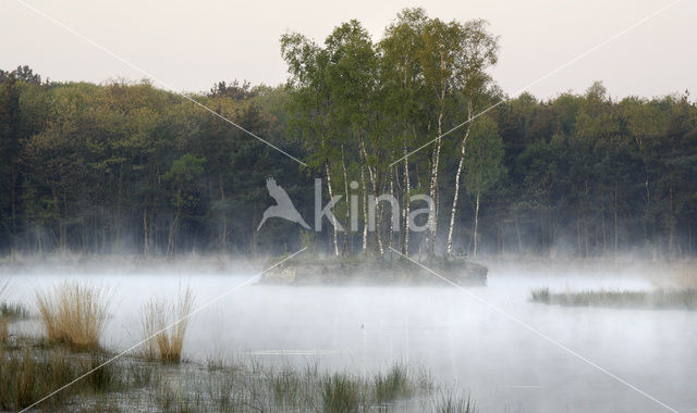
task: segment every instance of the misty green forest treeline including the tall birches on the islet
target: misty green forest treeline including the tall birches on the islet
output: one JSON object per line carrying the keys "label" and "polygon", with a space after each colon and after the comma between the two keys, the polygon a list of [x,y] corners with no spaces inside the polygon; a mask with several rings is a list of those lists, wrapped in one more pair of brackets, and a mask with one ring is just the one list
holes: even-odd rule
{"label": "misty green forest treeline including the tall birches on the islet", "polygon": [[[351,21],[323,43],[289,33],[281,53],[285,85],[221,82],[189,97],[306,166],[148,82],[0,71],[0,249],[697,252],[697,107],[687,92],[617,100],[595,83],[582,95],[509,100],[488,75],[498,38],[486,22],[421,9],[404,10],[378,41]],[[272,218],[257,231],[274,202],[268,177],[311,226],[321,178],[321,206],[341,196],[333,213],[356,230]],[[379,202],[368,230],[370,197],[382,193],[398,202]],[[435,208],[420,216],[428,229],[413,231],[419,195]]]}

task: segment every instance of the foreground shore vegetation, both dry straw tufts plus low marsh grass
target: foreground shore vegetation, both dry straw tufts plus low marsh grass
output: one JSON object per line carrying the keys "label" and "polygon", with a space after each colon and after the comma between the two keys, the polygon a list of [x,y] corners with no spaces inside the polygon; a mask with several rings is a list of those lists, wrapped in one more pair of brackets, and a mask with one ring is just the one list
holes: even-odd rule
{"label": "foreground shore vegetation, both dry straw tufts plus low marsh grass", "polygon": [[[0,278],[0,303],[11,280]],[[191,312],[194,296],[180,289],[175,302],[152,299],[142,308],[144,338],[152,340],[113,362],[100,345],[109,322],[109,290],[71,281],[37,290],[38,314],[19,311],[0,320],[0,411],[22,410],[95,370],[37,404],[48,412],[260,412],[362,411],[476,412],[474,402],[436,385],[432,375],[398,362],[372,373],[330,371],[317,362],[265,364],[254,356],[211,355],[205,363],[182,355],[187,325],[162,327]],[[44,335],[29,337],[15,322],[33,318]]]}

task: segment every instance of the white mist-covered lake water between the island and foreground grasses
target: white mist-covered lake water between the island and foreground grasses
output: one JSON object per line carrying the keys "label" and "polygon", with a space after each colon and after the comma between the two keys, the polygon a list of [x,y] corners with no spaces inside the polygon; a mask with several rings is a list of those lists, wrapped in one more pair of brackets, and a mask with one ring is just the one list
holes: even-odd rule
{"label": "white mist-covered lake water between the island and foreground grasses", "polygon": [[[547,270],[545,270],[547,268]],[[697,313],[567,308],[529,302],[533,288],[651,289],[619,270],[549,270],[490,264],[488,287],[469,291],[678,411],[697,411]],[[9,270],[2,270],[8,275]],[[259,268],[85,270],[76,276],[27,267],[13,273],[15,301],[68,277],[111,286],[102,342],[123,350],[140,339],[139,309],[189,285],[196,306]],[[40,333],[38,324],[20,328]],[[404,361],[437,383],[468,391],[482,412],[656,412],[661,406],[452,287],[246,286],[196,314],[185,356],[252,356],[262,363],[319,363],[376,371]],[[15,327],[17,328],[17,327]]]}

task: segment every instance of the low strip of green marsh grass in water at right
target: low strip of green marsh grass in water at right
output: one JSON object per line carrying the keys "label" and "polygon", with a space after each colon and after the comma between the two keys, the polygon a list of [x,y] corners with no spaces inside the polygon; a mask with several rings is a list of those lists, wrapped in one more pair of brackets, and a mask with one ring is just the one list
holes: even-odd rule
{"label": "low strip of green marsh grass in water at right", "polygon": [[567,306],[617,306],[697,310],[697,288],[657,289],[653,291],[586,290],[550,292],[549,288],[530,291],[530,300]]}

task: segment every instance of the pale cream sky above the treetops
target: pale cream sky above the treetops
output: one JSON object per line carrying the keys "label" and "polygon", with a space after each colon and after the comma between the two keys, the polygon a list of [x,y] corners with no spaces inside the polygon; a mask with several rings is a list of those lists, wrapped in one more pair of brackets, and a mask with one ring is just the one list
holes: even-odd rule
{"label": "pale cream sky above the treetops", "polygon": [[[420,5],[447,21],[489,21],[501,36],[491,73],[513,93],[672,0],[22,1],[180,91],[235,78],[277,85],[286,77],[279,48],[283,33],[321,42],[334,26],[357,18],[378,40],[400,10]],[[696,23],[697,1],[682,0],[530,91],[554,97],[603,80],[613,97],[687,89],[695,99]],[[94,83],[145,77],[17,0],[0,0],[0,39],[3,70],[28,64],[44,78]]]}

